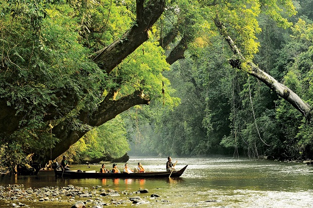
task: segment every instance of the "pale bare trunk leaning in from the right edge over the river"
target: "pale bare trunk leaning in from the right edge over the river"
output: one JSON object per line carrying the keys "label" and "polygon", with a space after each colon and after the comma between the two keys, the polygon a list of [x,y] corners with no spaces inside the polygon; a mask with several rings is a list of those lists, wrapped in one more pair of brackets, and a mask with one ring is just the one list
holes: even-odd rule
{"label": "pale bare trunk leaning in from the right edge over the river", "polygon": [[[214,20],[216,26],[220,30],[221,35],[228,42],[232,52],[234,53],[234,57],[230,60],[230,64],[233,67],[236,67],[241,70],[241,63],[246,61],[240,50],[232,40],[232,38],[228,35],[226,27],[219,20],[218,16]],[[275,91],[280,97],[288,101],[295,109],[297,109],[302,115],[305,117],[310,116],[311,114],[311,106],[305,103],[296,93],[290,90],[287,86],[279,83],[272,76],[260,70],[260,68],[255,65],[251,61],[246,61],[246,63],[251,67],[251,70],[247,73],[255,77],[256,79],[265,83],[270,89]]]}

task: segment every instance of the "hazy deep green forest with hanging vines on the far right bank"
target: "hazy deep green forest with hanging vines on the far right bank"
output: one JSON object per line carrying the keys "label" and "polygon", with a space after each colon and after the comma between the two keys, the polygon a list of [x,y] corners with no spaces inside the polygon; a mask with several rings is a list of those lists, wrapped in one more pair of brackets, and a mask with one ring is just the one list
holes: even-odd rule
{"label": "hazy deep green forest with hanging vines on the far right bank", "polygon": [[[312,1],[295,4],[298,14],[290,19],[293,23],[269,18],[271,11],[257,15],[253,24],[261,29],[255,42],[260,47],[253,61],[312,105],[313,27],[305,7],[309,4]],[[286,30],[282,24],[292,26]],[[249,40],[242,41],[241,49],[251,46],[245,43]],[[148,117],[150,127],[137,124],[141,139],[132,133],[133,154],[313,159],[310,117],[302,117],[263,83],[231,68],[227,48],[212,35],[201,33],[195,39],[188,56],[166,73],[181,105]]]}

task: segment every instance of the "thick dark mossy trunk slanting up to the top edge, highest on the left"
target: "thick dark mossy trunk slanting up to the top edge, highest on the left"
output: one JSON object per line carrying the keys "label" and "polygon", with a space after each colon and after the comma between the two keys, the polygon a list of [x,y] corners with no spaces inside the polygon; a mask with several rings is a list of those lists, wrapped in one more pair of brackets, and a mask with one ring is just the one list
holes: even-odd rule
{"label": "thick dark mossy trunk slanting up to the top edge, highest on the left", "polygon": [[136,0],[136,22],[121,39],[95,53],[93,61],[108,74],[122,60],[148,40],[148,31],[165,10],[165,0],[151,1],[145,8],[144,0]]}

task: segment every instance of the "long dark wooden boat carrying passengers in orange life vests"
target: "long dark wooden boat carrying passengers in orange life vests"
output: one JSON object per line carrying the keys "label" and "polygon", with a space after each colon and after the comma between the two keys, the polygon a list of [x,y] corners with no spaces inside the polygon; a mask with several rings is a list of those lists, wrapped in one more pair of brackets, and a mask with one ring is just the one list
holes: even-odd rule
{"label": "long dark wooden boat carrying passengers in orange life vests", "polygon": [[144,172],[144,173],[100,173],[95,170],[80,171],[80,170],[55,170],[56,176],[69,178],[177,178],[180,177],[186,170],[188,165],[179,171],[161,171],[161,172]]}

